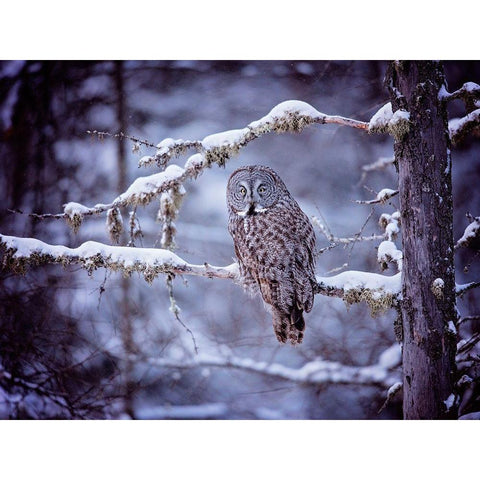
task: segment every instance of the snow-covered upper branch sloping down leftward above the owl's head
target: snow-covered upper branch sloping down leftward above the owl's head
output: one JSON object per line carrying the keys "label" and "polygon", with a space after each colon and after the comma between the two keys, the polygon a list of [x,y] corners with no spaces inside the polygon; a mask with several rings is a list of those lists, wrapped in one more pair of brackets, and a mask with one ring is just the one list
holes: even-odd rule
{"label": "snow-covered upper branch sloping down leftward above the owl's head", "polygon": [[[250,141],[268,132],[301,132],[310,124],[337,124],[353,128],[367,130],[368,123],[345,118],[337,115],[326,115],[313,108],[308,103],[298,100],[288,100],[275,106],[270,113],[259,120],[251,122],[247,127],[237,130],[228,130],[208,135],[201,141],[184,141],[166,138],[156,148],[154,156],[142,157],[139,166],[147,166],[157,163],[165,167],[168,161],[185,153],[188,149],[196,149],[197,153],[191,155],[184,167],[169,165],[164,171],[153,175],[137,178],[128,189],[121,193],[111,203],[99,203],[93,207],[87,207],[76,202],[64,205],[63,213],[59,214],[30,214],[38,219],[64,218],[74,232],[80,228],[84,217],[99,215],[104,212],[116,211],[119,207],[147,205],[165,192],[179,192],[183,183],[190,178],[196,178],[204,169],[213,163],[224,165],[240,148]],[[101,137],[110,135],[120,139],[130,138],[136,143],[152,146],[145,141],[125,134],[112,135],[107,132],[89,132]],[[109,231],[111,230],[110,227]],[[167,226],[168,227],[168,226]],[[168,233],[168,232],[164,232]],[[172,243],[165,235],[165,244]]]}

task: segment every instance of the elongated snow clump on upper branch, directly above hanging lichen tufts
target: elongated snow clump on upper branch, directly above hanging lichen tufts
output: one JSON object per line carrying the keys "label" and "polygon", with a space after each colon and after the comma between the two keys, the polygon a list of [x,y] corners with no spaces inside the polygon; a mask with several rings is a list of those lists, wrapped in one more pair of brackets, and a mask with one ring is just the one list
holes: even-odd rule
{"label": "elongated snow clump on upper branch, directly above hanging lichen tufts", "polygon": [[138,177],[113,203],[149,202],[166,184],[180,180],[184,173],[185,170],[178,165],[169,165],[163,172]]}

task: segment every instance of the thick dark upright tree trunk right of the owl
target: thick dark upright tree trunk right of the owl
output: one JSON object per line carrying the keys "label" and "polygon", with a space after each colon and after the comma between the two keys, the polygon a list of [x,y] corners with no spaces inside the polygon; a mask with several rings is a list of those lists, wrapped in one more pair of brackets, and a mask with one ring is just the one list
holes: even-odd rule
{"label": "thick dark upright tree trunk right of the owl", "polygon": [[443,65],[393,62],[386,82],[393,111],[410,113],[392,129],[404,256],[403,416],[453,418],[447,405],[455,375],[455,271],[447,112],[438,95]]}

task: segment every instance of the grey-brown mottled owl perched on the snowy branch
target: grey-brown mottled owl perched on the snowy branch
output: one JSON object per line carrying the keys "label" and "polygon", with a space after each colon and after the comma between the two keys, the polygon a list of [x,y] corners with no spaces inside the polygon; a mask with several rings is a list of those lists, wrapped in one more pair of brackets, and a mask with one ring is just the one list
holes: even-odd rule
{"label": "grey-brown mottled owl perched on the snowy branch", "polygon": [[315,233],[271,168],[239,168],[227,184],[228,231],[243,287],[260,293],[281,343],[301,343],[313,307]]}

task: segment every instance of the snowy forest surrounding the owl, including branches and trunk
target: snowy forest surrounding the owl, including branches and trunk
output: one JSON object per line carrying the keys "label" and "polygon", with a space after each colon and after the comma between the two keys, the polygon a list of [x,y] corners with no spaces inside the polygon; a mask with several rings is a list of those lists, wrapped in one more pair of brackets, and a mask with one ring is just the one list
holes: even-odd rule
{"label": "snowy forest surrounding the owl, including branches and trunk", "polygon": [[[417,63],[0,62],[0,418],[480,418],[480,62]],[[408,163],[442,109],[445,155]],[[315,230],[297,346],[238,282],[244,165],[273,168]],[[446,224],[431,198],[453,201]],[[425,209],[441,225],[418,240]],[[445,275],[420,288],[424,244]],[[441,313],[425,338],[415,296]]]}

